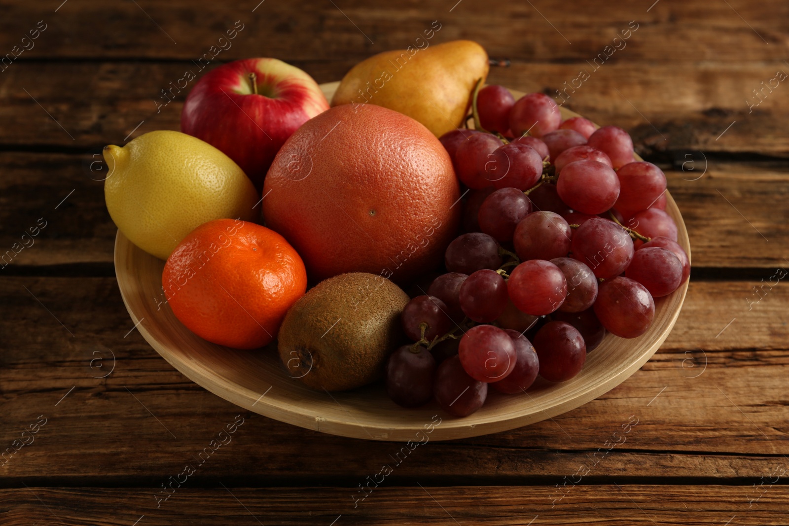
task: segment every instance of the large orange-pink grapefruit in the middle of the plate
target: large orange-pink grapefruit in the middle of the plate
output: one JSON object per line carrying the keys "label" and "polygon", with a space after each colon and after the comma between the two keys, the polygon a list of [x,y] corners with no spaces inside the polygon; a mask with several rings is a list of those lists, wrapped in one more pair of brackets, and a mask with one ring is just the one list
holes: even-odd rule
{"label": "large orange-pink grapefruit in the middle of the plate", "polygon": [[263,213],[320,281],[369,272],[408,282],[439,266],[458,230],[452,162],[424,125],[372,104],[301,126],[266,175]]}

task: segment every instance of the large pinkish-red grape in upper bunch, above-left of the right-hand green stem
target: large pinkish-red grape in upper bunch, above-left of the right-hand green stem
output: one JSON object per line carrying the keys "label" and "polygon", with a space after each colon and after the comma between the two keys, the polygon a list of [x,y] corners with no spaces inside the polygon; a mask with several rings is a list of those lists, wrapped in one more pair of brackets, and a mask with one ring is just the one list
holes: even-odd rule
{"label": "large pinkish-red grape in upper bunch, above-left of the right-hand green stem", "polygon": [[570,162],[559,174],[556,191],[574,211],[600,214],[614,206],[619,197],[619,178],[602,162]]}

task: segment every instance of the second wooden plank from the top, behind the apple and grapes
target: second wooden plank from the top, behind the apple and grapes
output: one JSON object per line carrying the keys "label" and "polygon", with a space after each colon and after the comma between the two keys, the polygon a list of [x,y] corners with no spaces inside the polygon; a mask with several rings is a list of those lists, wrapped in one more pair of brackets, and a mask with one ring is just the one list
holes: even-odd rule
{"label": "second wooden plank from the top, behind the apple and grapes", "polygon": [[[294,63],[327,82],[342,78],[354,62]],[[753,94],[778,69],[789,73],[781,61],[611,62],[597,70],[586,62],[514,62],[510,68],[492,69],[490,82],[544,91],[600,124],[628,129],[643,155],[701,150],[786,156],[789,98],[782,91],[789,88],[773,81],[778,87],[772,92],[766,88],[761,98]],[[88,150],[124,144],[127,137],[154,129],[179,129],[183,100],[193,83],[179,93],[170,82],[178,82],[187,70],[200,74],[189,61],[20,62],[0,75],[0,120],[6,124],[0,144]],[[578,80],[581,71],[588,80]],[[167,89],[173,91],[164,97]]]}

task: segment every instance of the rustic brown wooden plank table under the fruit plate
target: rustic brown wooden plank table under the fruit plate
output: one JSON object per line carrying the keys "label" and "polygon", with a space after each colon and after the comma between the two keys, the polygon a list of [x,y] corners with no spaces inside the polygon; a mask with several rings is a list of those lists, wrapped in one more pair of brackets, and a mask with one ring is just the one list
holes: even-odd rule
{"label": "rustic brown wooden plank table under the fruit plate", "polygon": [[[61,2],[0,2],[0,52],[30,48],[0,73],[0,254],[14,251],[0,270],[0,450],[26,442],[0,460],[0,524],[789,524],[789,289],[775,277],[789,265],[789,86],[772,80],[789,72],[787,2]],[[690,292],[662,349],[615,390],[529,427],[429,442],[355,503],[399,444],[241,411],[134,330],[96,154],[178,129],[186,91],[157,112],[160,90],[236,21],[212,64],[271,56],[326,82],[436,20],[436,41],[510,59],[492,83],[555,95],[590,73],[567,106],[630,130],[667,170]],[[178,487],[185,464],[196,472]]]}

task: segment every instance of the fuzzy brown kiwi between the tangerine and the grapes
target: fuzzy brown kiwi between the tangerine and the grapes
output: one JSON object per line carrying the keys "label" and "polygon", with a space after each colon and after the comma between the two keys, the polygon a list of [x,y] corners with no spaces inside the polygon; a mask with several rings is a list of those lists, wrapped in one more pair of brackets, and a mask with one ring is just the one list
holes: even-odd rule
{"label": "fuzzy brown kiwi between the tangerine and the grapes", "polygon": [[314,390],[344,391],[383,376],[405,335],[400,315],[409,297],[380,275],[340,274],[320,282],[287,312],[279,358],[288,374]]}

